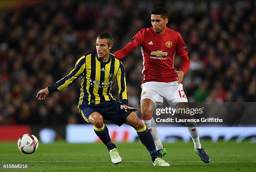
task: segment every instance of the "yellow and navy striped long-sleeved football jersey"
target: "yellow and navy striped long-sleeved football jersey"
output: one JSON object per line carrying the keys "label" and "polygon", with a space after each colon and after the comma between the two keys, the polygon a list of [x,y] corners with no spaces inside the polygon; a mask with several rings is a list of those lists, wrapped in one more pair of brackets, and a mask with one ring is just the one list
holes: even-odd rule
{"label": "yellow and navy striped long-sleeved football jersey", "polygon": [[77,60],[69,75],[48,87],[48,90],[54,92],[69,87],[79,76],[82,78],[79,109],[87,105],[97,106],[115,100],[111,94],[115,80],[117,80],[118,94],[122,105],[128,104],[125,68],[115,56],[110,54],[107,62],[101,62],[97,58],[96,51],[87,53]]}

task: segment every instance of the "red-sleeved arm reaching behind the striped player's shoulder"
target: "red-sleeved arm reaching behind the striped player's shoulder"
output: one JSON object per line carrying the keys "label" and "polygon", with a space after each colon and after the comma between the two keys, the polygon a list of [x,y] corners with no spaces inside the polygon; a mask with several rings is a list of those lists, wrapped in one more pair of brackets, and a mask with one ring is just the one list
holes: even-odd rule
{"label": "red-sleeved arm reaching behind the striped player's shoulder", "polygon": [[126,55],[128,55],[133,49],[142,45],[143,42],[143,29],[140,30],[134,37],[125,45],[121,50],[115,52],[115,57],[118,59],[123,59]]}

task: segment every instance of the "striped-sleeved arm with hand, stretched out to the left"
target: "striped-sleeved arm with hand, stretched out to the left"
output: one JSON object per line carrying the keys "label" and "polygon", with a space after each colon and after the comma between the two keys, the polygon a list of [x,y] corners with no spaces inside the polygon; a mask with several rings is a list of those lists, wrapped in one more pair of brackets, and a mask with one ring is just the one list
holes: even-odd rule
{"label": "striped-sleeved arm with hand, stretched out to the left", "polygon": [[84,69],[85,69],[85,56],[82,56],[79,60],[77,60],[74,69],[71,72],[69,72],[69,75],[63,77],[61,80],[59,80],[55,84],[40,90],[37,93],[36,98],[38,98],[38,100],[45,100],[46,97],[49,95],[49,93],[69,87],[84,72]]}

